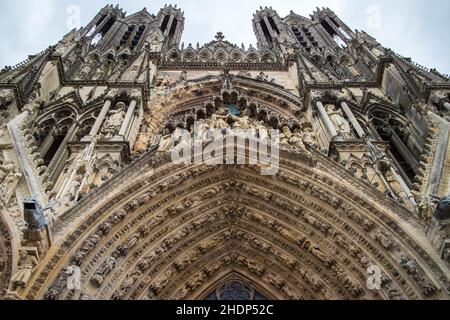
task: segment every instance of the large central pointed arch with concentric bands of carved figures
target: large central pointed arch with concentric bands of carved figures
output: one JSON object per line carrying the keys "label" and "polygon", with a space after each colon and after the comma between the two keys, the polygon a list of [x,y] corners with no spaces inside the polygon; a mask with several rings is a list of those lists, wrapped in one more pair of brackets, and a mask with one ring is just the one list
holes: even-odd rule
{"label": "large central pointed arch with concentric bands of carved figures", "polygon": [[[64,289],[71,264],[92,299],[200,298],[232,273],[279,299],[448,297],[419,230],[395,201],[314,151],[283,151],[274,177],[148,154],[61,217],[60,249],[27,298],[74,298]],[[371,265],[380,292],[366,287]]]}

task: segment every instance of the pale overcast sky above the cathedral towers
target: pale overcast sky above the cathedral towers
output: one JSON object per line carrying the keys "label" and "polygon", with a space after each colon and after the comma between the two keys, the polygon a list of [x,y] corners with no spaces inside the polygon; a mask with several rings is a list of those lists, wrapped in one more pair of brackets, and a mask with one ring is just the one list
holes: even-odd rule
{"label": "pale overcast sky above the cathedral towers", "polygon": [[[104,0],[0,0],[0,66],[14,65],[28,54],[57,43],[70,29],[86,25],[106,4]],[[156,14],[166,1],[122,0],[128,14],[146,7]],[[315,7],[328,6],[351,29],[364,30],[387,48],[442,73],[450,73],[450,1],[448,0],[178,0],[185,11],[184,42],[226,40],[255,44],[251,19],[262,6],[280,16],[290,10],[309,17]],[[75,6],[75,7],[74,7]],[[79,8],[80,19],[77,19]],[[78,23],[77,20],[80,20]]]}

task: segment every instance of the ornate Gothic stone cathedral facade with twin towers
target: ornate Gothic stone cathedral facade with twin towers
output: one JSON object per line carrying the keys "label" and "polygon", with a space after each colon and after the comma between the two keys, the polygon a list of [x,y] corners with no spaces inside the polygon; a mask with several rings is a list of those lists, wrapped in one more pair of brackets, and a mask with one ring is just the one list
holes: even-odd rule
{"label": "ornate Gothic stone cathedral facade with twin towers", "polygon": [[[450,78],[328,8],[184,23],[108,5],[1,70],[0,299],[450,299]],[[278,171],[173,161],[196,123]]]}

